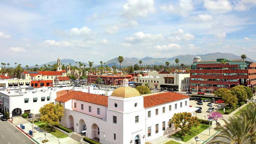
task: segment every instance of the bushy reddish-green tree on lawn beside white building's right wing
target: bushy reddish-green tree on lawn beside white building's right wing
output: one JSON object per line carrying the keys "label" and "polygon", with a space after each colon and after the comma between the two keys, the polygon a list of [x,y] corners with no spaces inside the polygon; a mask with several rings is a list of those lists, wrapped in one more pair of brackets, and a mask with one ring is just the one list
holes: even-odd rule
{"label": "bushy reddish-green tree on lawn beside white building's right wing", "polygon": [[172,117],[171,123],[174,123],[175,130],[180,128],[182,134],[190,134],[192,127],[197,127],[200,124],[200,120],[197,117],[192,116],[191,113],[175,113]]}

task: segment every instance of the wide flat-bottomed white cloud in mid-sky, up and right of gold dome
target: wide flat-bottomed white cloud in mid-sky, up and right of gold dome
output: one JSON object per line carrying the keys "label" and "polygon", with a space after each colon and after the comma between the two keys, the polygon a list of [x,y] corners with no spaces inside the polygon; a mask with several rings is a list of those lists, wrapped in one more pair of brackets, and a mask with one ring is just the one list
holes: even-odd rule
{"label": "wide flat-bottomed white cloud in mid-sky, up and right of gold dome", "polygon": [[126,37],[125,41],[127,42],[152,42],[162,40],[163,36],[161,34],[152,35],[150,33],[136,32],[132,36]]}

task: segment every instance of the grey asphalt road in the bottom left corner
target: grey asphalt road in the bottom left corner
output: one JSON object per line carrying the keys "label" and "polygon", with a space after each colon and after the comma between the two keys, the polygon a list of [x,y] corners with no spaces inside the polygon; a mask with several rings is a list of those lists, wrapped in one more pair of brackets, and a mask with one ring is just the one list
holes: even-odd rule
{"label": "grey asphalt road in the bottom left corner", "polygon": [[1,144],[34,144],[20,130],[17,130],[8,121],[0,120],[0,143]]}

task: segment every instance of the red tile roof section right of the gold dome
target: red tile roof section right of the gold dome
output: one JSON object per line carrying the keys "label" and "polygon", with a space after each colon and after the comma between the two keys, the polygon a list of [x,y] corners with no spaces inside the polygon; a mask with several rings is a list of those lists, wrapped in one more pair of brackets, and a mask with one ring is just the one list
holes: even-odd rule
{"label": "red tile roof section right of the gold dome", "polygon": [[173,102],[188,98],[189,96],[182,95],[175,92],[163,92],[155,95],[145,96],[144,98],[144,108],[153,107],[156,105]]}

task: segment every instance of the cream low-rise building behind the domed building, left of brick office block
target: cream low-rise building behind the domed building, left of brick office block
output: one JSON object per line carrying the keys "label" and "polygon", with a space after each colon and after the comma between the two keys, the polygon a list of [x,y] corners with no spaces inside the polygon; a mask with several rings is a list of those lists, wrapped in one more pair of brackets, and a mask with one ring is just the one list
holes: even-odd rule
{"label": "cream low-rise building behind the domed building, left of brick office block", "polygon": [[[176,86],[177,79],[177,86]],[[145,84],[150,89],[167,90],[168,91],[186,91],[190,89],[190,75],[189,73],[161,73],[157,71],[148,72],[148,75],[137,75],[135,77],[135,86]]]}

